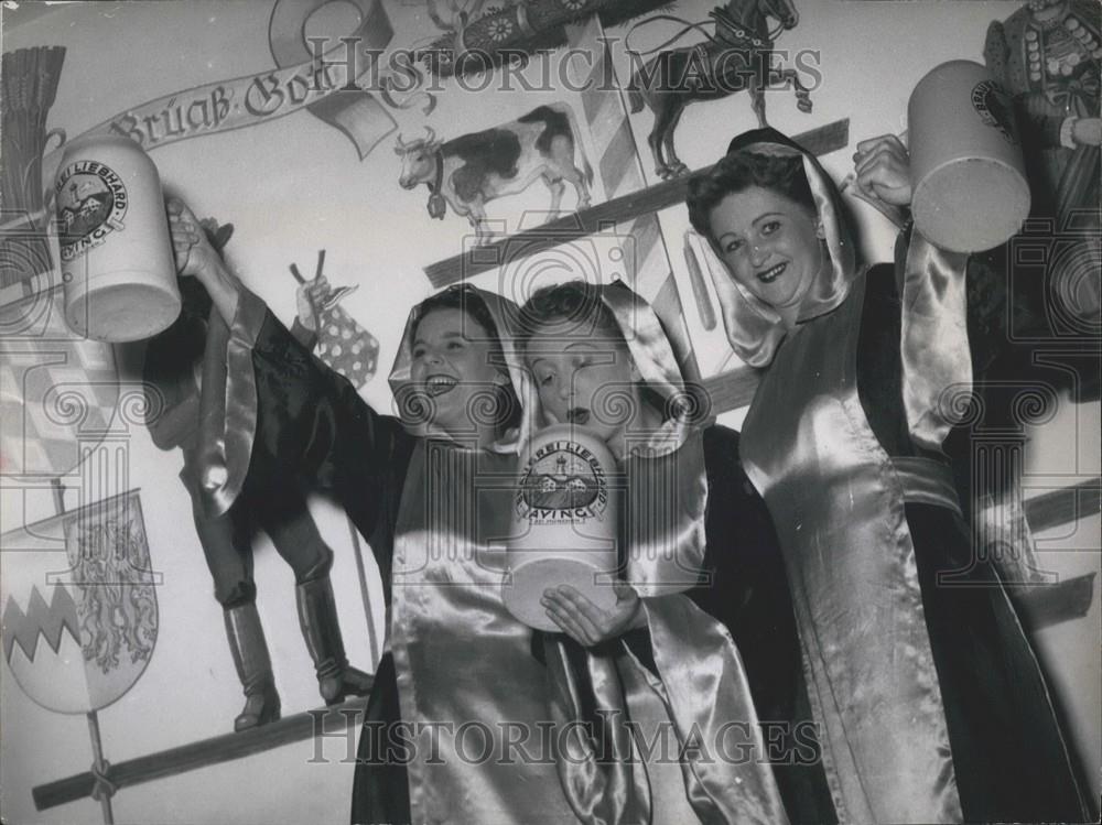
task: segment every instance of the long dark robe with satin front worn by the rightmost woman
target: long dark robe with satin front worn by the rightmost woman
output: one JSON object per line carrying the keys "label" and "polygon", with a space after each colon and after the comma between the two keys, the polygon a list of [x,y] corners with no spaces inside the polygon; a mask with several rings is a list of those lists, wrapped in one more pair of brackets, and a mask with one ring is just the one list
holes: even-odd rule
{"label": "long dark robe with satin front worn by the rightmost woman", "polygon": [[[934,282],[909,310],[952,323],[960,283]],[[839,821],[1085,821],[1040,667],[972,557],[949,468],[917,446],[940,432],[922,399],[948,389],[952,352],[906,337],[917,325],[903,313],[890,267],[858,274],[839,307],[788,334],[743,430]]]}

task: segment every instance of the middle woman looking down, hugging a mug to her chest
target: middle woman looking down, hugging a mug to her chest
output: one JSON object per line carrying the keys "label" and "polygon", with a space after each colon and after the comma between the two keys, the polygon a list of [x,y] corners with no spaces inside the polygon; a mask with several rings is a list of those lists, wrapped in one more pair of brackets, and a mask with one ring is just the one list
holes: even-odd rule
{"label": "middle woman looking down, hugging a mug to her chest", "polygon": [[[672,760],[644,759],[653,822],[829,819],[788,583],[738,434],[701,427],[657,315],[623,283],[544,287],[520,318],[542,423],[607,443],[623,493],[617,598],[548,583],[540,599],[565,634],[544,637],[553,707],[677,737]],[[563,764],[583,799],[601,777],[586,768]]]}

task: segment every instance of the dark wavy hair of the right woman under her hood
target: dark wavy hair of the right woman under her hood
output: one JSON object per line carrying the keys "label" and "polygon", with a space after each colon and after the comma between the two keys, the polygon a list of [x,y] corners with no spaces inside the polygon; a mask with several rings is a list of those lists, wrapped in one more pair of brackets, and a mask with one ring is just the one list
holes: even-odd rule
{"label": "dark wavy hair of the right woman under her hood", "polygon": [[803,171],[802,156],[738,150],[724,155],[709,174],[689,182],[685,204],[692,228],[715,243],[710,220],[712,210],[727,195],[745,192],[752,186],[777,192],[810,209],[812,215],[818,213],[808,175]]}

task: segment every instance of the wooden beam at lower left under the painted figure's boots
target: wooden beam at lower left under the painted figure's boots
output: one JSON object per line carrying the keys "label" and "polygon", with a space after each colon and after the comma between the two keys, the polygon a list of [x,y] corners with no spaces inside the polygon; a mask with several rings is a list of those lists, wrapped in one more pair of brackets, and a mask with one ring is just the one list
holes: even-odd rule
{"label": "wooden beam at lower left under the painted figure's boots", "polygon": [[[336,734],[357,725],[366,707],[367,698],[356,697],[341,705],[295,714],[239,734],[216,736],[112,764],[107,771],[107,779],[117,789],[122,789],[313,739],[322,731],[325,735]],[[91,773],[78,773],[33,788],[31,796],[34,799],[34,806],[39,811],[45,811],[90,796],[95,784],[96,779]]]}

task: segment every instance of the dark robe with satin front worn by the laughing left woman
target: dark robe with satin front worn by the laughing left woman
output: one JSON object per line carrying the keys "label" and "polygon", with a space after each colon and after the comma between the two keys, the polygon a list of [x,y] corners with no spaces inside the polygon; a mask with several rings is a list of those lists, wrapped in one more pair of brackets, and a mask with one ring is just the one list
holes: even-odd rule
{"label": "dark robe with satin front worn by the laughing left woman", "polygon": [[338,496],[382,571],[390,661],[380,675],[397,674],[402,723],[386,731],[382,756],[404,762],[408,802],[376,789],[387,799],[372,804],[397,822],[575,821],[559,783],[545,669],[500,596],[516,457],[409,435],[270,315],[252,355],[257,441],[285,471]]}

